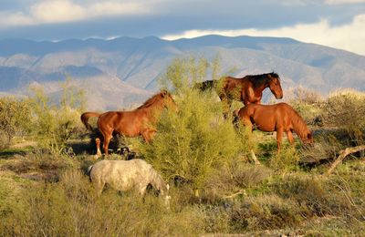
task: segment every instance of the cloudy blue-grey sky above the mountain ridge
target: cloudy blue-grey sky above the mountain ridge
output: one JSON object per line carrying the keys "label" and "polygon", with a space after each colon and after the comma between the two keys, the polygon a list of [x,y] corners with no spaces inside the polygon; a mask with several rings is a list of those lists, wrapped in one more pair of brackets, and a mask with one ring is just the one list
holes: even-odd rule
{"label": "cloudy blue-grey sky above the mountain ridge", "polygon": [[0,39],[291,37],[365,56],[365,0],[0,0]]}

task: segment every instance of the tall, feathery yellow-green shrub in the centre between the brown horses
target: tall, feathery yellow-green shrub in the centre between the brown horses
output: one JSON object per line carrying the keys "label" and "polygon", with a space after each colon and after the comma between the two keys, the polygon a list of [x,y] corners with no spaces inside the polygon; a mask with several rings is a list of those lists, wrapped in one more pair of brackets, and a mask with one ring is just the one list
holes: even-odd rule
{"label": "tall, feathery yellow-green shrub in the centre between the brown horses", "polygon": [[[190,87],[206,76],[207,65],[206,60],[194,58],[172,62],[162,84],[177,94],[179,111],[163,113],[151,144],[138,148],[167,180],[183,180],[195,190],[214,169],[245,155],[248,147],[245,132],[235,131],[232,122],[224,120],[216,95]],[[214,63],[213,75],[216,67]]]}

